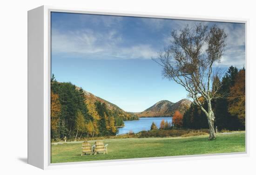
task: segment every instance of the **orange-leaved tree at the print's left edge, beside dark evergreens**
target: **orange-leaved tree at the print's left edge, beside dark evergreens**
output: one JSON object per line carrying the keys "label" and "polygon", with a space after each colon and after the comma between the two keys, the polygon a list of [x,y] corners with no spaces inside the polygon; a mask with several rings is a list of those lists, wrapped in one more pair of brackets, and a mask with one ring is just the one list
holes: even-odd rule
{"label": "orange-leaved tree at the print's left edge, beside dark evergreens", "polygon": [[56,134],[59,130],[61,104],[58,94],[51,92],[51,133]]}

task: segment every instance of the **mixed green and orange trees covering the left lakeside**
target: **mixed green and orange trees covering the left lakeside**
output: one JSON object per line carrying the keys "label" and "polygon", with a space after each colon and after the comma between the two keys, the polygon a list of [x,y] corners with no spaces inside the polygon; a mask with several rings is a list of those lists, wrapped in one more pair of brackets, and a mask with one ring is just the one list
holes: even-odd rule
{"label": "mixed green and orange trees covering the left lakeside", "polygon": [[108,110],[105,103],[86,103],[82,89],[51,78],[51,138],[77,139],[86,136],[114,136],[115,126],[123,125],[118,111]]}

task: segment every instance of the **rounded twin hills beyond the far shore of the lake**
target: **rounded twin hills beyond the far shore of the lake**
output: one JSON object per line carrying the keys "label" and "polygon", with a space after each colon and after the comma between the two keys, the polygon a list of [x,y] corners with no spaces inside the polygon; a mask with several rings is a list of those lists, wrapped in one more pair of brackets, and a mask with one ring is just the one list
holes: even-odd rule
{"label": "rounded twin hills beyond the far shore of the lake", "polygon": [[182,99],[176,103],[162,100],[143,112],[136,112],[134,114],[138,117],[171,117],[176,110],[184,114],[184,112],[189,109],[191,103],[192,102],[188,99]]}

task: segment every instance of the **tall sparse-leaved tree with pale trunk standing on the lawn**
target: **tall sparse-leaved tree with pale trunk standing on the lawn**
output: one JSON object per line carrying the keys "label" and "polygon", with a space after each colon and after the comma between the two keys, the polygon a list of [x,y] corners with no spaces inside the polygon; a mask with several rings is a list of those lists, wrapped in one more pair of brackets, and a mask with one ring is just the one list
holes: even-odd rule
{"label": "tall sparse-leaved tree with pale trunk standing on the lawn", "polygon": [[[198,24],[195,27],[186,26],[178,32],[174,30],[171,36],[170,45],[154,60],[163,67],[163,76],[181,84],[206,114],[209,140],[213,140],[216,135],[211,100],[218,97],[216,92],[220,84],[214,83],[217,72],[212,67],[221,60],[227,35],[216,25],[209,28]],[[207,109],[199,97],[204,98]]]}

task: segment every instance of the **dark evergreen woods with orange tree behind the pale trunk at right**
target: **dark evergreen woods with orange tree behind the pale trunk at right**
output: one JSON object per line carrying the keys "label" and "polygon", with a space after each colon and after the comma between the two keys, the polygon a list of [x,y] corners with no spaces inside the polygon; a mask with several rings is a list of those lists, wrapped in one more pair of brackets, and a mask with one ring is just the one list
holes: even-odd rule
{"label": "dark evergreen woods with orange tree behind the pale trunk at right", "polygon": [[[231,66],[222,80],[214,78],[215,83],[221,84],[218,86],[218,98],[211,102],[216,117],[215,126],[218,130],[245,130],[245,69],[238,70]],[[203,97],[200,101],[207,109]],[[193,103],[183,115],[182,127],[209,128],[205,113]]]}

